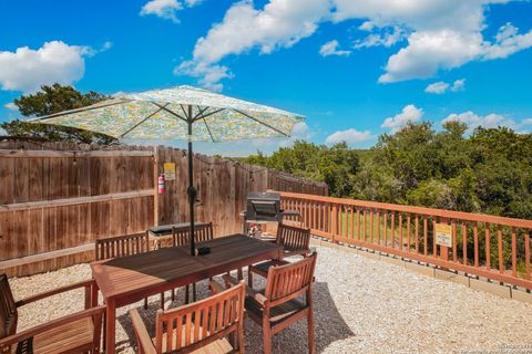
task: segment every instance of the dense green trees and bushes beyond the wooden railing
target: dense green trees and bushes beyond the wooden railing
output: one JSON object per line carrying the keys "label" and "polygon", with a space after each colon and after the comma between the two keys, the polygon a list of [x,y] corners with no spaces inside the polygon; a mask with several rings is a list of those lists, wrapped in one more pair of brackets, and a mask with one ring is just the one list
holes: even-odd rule
{"label": "dense green trees and bushes beyond the wooden railing", "polygon": [[507,127],[424,122],[369,150],[296,142],[244,160],[325,181],[331,196],[532,219],[532,135]]}

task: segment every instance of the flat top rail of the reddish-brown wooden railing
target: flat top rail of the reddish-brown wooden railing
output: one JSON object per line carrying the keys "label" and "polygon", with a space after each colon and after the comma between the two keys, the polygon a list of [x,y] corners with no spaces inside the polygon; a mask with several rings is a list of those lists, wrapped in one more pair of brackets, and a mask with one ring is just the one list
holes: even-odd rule
{"label": "flat top rail of the reddish-brown wooden railing", "polygon": [[346,206],[357,206],[357,207],[371,208],[371,209],[378,209],[378,210],[409,212],[409,214],[418,214],[418,215],[441,217],[441,218],[463,220],[463,221],[487,222],[487,223],[502,225],[502,226],[509,226],[509,227],[515,227],[515,228],[532,229],[532,220],[525,220],[525,219],[514,219],[514,218],[497,217],[497,216],[491,216],[485,214],[472,214],[472,212],[452,211],[452,210],[424,208],[424,207],[410,207],[410,206],[401,206],[396,204],[357,200],[357,199],[348,199],[348,198],[323,197],[323,196],[314,196],[314,195],[306,195],[306,194],[298,194],[298,192],[280,191],[279,194],[282,197],[286,197],[286,198],[330,202],[330,204],[346,205]]}

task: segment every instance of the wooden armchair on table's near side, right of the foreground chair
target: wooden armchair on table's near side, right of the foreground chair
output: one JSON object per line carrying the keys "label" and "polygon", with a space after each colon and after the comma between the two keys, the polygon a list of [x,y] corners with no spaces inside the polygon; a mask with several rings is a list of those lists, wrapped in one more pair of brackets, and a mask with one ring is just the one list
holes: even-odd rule
{"label": "wooden armchair on table's near side, right of the foreground chair", "polygon": [[[311,290],[316,259],[317,253],[313,253],[297,262],[270,267],[264,292],[246,287],[245,308],[249,319],[263,327],[265,354],[272,353],[272,337],[276,333],[305,316],[308,321],[308,352],[316,353]],[[223,278],[227,285],[239,283],[232,277]],[[305,301],[298,299],[303,294]]]}

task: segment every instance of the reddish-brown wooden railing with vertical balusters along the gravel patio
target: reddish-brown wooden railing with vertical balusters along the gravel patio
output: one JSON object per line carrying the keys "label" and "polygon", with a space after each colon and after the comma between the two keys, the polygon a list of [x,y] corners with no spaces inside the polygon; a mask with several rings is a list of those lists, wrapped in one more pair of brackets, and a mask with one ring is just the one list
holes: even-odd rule
{"label": "reddish-brown wooden railing with vertical balusters along the gravel patio", "polygon": [[[332,242],[532,289],[532,220],[294,192],[280,195],[284,209],[299,210],[314,235]],[[450,227],[450,247],[437,242],[436,229],[440,225]]]}

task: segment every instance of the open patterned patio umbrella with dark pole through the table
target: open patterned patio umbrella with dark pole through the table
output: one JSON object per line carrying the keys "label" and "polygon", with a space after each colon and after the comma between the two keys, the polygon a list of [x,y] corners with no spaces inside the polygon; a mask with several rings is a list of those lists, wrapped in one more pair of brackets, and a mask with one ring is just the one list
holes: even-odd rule
{"label": "open patterned patio umbrella with dark pole through the table", "polygon": [[191,254],[195,254],[193,142],[289,136],[304,116],[192,86],[124,94],[79,110],[31,119],[136,139],[188,142]]}

